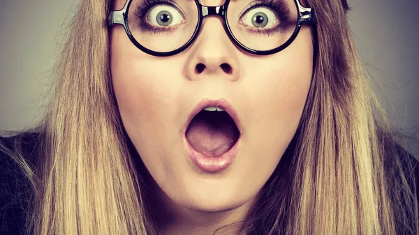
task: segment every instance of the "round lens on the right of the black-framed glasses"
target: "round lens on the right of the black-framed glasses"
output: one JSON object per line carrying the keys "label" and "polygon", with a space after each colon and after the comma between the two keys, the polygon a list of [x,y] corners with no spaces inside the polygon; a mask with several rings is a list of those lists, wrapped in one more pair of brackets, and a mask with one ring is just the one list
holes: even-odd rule
{"label": "round lens on the right of the black-framed glasses", "polygon": [[242,45],[267,51],[293,36],[298,14],[294,0],[232,0],[226,17],[230,31]]}

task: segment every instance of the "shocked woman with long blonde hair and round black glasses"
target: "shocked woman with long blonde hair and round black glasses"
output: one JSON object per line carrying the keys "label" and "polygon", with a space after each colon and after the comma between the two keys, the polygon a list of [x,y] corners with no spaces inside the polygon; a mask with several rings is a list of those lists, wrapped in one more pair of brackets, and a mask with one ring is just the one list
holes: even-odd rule
{"label": "shocked woman with long blonde hair and round black glasses", "polygon": [[80,1],[43,122],[2,139],[3,231],[418,234],[347,10]]}

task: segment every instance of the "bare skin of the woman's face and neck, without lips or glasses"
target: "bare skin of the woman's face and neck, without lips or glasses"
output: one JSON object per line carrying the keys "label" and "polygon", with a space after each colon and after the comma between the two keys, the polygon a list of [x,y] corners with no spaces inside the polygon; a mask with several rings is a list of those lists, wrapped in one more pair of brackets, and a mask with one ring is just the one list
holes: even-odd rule
{"label": "bare skin of the woman's face and neck, without lips or glasses", "polygon": [[[113,9],[124,3],[115,1]],[[159,210],[166,215],[164,234],[212,234],[243,219],[300,121],[313,72],[309,26],[303,25],[285,50],[269,56],[240,50],[214,16],[205,18],[193,45],[175,56],[138,50],[122,26],[112,27],[110,48],[119,112],[156,184]],[[198,63],[204,70],[196,70]],[[180,135],[187,116],[205,98],[228,100],[243,126],[233,164],[216,174],[191,162]]]}

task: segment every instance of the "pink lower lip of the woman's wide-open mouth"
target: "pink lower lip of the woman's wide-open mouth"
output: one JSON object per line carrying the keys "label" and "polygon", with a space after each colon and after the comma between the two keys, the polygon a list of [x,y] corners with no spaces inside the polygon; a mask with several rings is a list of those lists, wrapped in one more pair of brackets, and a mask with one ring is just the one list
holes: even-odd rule
{"label": "pink lower lip of the woman's wide-open mouth", "polygon": [[188,147],[189,157],[191,158],[192,162],[195,163],[195,165],[202,169],[204,172],[212,173],[221,172],[223,169],[226,169],[228,166],[231,165],[231,163],[233,163],[233,160],[237,154],[237,150],[239,149],[240,139],[241,137],[237,139],[237,142],[229,151],[227,151],[219,157],[212,158],[205,156],[203,153],[200,153],[193,149],[186,137],[184,137],[184,141],[186,142],[186,146]]}

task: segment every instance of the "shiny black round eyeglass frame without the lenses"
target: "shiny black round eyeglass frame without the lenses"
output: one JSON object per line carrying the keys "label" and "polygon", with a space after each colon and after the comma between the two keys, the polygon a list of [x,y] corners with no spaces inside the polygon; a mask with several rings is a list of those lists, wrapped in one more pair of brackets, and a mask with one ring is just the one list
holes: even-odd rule
{"label": "shiny black round eyeglass frame without the lenses", "polygon": [[182,47],[179,47],[176,50],[172,50],[170,52],[156,52],[156,51],[153,51],[153,50],[149,50],[147,47],[144,47],[140,43],[138,43],[138,41],[135,40],[133,34],[129,30],[129,27],[128,27],[128,9],[129,9],[129,6],[131,5],[132,1],[133,0],[127,0],[125,2],[124,8],[122,8],[121,10],[112,10],[110,12],[110,14],[108,16],[108,26],[112,26],[114,24],[121,24],[122,26],[124,26],[126,34],[127,34],[128,38],[131,40],[131,42],[136,47],[138,47],[138,49],[142,50],[143,52],[145,52],[147,54],[151,54],[153,56],[172,56],[172,55],[178,54],[178,53],[183,52],[184,50],[186,50],[186,48],[188,48],[193,43],[193,41],[195,41],[196,38],[198,38],[198,35],[199,35],[199,32],[200,32],[204,17],[206,17],[208,15],[219,15],[223,19],[223,27],[226,30],[227,35],[230,38],[230,40],[233,40],[233,43],[235,43],[238,47],[240,47],[245,52],[249,52],[251,54],[257,54],[257,55],[274,54],[274,53],[280,52],[281,50],[284,50],[286,47],[288,47],[288,45],[291,45],[291,43],[293,43],[295,38],[297,38],[297,35],[300,32],[302,23],[304,23],[304,22],[315,23],[314,9],[305,8],[304,6],[301,5],[300,0],[294,0],[295,6],[297,6],[297,11],[298,11],[298,19],[297,19],[298,24],[295,27],[295,30],[294,30],[293,34],[291,35],[291,38],[289,38],[283,45],[281,45],[277,48],[274,48],[272,50],[264,50],[264,51],[253,50],[249,47],[246,47],[242,43],[240,43],[240,41],[237,40],[237,38],[235,38],[235,36],[233,35],[233,32],[230,29],[230,26],[227,24],[228,20],[227,20],[226,13],[227,13],[227,9],[228,9],[228,3],[230,3],[230,0],[226,0],[226,2],[221,6],[203,6],[200,3],[200,0],[195,0],[197,10],[198,10],[198,24],[195,28],[195,31],[193,32],[192,37],[188,40],[188,42],[186,42],[184,45],[182,45]]}

